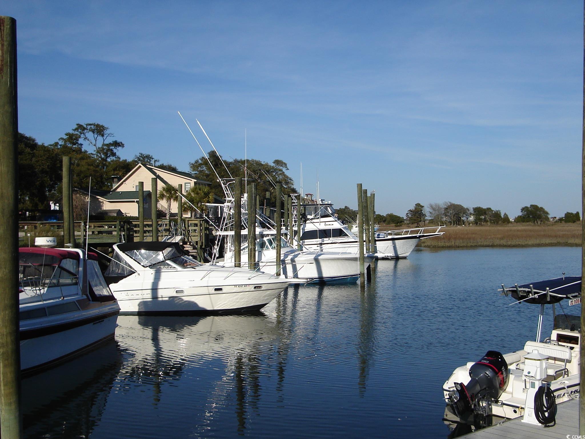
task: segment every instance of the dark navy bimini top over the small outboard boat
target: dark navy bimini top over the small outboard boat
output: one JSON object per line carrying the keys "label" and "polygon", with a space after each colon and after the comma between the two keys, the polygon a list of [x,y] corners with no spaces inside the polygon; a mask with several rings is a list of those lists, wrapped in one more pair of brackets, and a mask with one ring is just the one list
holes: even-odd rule
{"label": "dark navy bimini top over the small outboard boat", "polygon": [[514,299],[527,303],[539,305],[559,303],[563,299],[581,297],[581,276],[556,277],[555,279],[505,287],[504,293],[511,294]]}

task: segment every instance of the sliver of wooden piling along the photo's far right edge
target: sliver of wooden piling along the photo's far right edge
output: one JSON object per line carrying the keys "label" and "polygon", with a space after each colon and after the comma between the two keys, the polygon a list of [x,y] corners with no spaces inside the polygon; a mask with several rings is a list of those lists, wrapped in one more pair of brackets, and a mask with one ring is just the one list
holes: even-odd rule
{"label": "sliver of wooden piling along the photo's far right edge", "polygon": [[[585,81],[585,2],[583,9],[583,81]],[[583,83],[583,136],[581,138],[581,218],[585,214],[585,82]],[[585,219],[581,219],[581,273],[585,273]],[[585,388],[585,282],[581,282],[581,383]],[[585,397],[579,398],[579,434],[585,435]]]}

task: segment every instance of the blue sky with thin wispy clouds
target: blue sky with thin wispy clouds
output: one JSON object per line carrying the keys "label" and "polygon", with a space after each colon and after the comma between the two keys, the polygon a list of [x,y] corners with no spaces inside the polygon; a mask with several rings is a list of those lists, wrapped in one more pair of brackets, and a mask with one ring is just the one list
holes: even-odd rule
{"label": "blue sky with thin wispy clouds", "polygon": [[[18,26],[19,130],[109,126],[120,155],[188,170],[198,118],[225,157],[376,210],[452,201],[580,210],[579,1],[35,2]],[[204,135],[195,131],[205,147]],[[208,145],[208,144],[207,144]],[[209,148],[206,149],[211,149]]]}

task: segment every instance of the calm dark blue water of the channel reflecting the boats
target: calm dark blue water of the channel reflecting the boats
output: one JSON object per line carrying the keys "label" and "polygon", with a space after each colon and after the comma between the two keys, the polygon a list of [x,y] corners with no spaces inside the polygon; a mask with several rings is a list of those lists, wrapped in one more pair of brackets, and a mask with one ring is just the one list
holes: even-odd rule
{"label": "calm dark blue water of the channel reflecting the boats", "polygon": [[25,433],[446,437],[441,386],[453,369],[535,337],[538,307],[508,306],[500,284],[579,275],[580,256],[417,249],[378,261],[363,293],[291,287],[260,315],[119,317],[115,342],[23,382]]}

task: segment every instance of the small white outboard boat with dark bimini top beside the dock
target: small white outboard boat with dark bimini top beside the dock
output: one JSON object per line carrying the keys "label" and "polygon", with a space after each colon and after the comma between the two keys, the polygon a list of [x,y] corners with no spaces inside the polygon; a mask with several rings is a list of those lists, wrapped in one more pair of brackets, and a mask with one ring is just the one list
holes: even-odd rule
{"label": "small white outboard boat with dark bimini top beside the dock", "polygon": [[502,286],[500,291],[518,302],[541,306],[536,340],[527,341],[524,348],[508,354],[488,351],[479,361],[453,371],[443,384],[445,421],[450,427],[481,426],[491,416],[508,419],[522,416],[524,422],[546,424],[554,418],[552,402],[579,396],[580,317],[556,315],[554,329],[544,341],[541,330],[546,304],[552,304],[554,310],[562,300],[580,303],[581,277]]}

